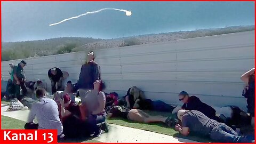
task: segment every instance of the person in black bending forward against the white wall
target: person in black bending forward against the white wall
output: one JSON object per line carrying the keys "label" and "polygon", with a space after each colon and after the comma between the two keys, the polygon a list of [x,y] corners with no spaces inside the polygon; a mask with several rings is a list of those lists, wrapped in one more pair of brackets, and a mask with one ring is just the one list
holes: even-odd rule
{"label": "person in black bending forward against the white wall", "polygon": [[48,70],[48,77],[51,80],[52,94],[54,94],[56,91],[59,91],[59,89],[61,89],[62,87],[63,73],[59,68],[54,67]]}

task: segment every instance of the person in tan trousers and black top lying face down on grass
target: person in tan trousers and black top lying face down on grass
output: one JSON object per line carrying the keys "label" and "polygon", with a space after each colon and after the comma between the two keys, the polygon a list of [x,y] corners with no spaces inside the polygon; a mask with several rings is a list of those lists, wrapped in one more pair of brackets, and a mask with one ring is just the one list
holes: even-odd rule
{"label": "person in tan trousers and black top lying face down on grass", "polygon": [[107,115],[107,118],[111,117],[122,117],[124,119],[129,119],[134,122],[140,123],[154,123],[154,122],[162,122],[166,124],[166,126],[172,126],[172,121],[170,117],[164,116],[150,116],[140,109],[131,109],[125,106],[114,106],[112,107]]}

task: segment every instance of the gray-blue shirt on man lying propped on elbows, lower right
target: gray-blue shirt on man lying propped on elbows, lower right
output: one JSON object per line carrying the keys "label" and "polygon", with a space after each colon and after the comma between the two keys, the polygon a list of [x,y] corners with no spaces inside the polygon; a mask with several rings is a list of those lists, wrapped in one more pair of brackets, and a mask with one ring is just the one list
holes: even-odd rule
{"label": "gray-blue shirt on man lying propped on elbows, lower right", "polygon": [[182,116],[182,127],[189,127],[191,132],[201,135],[209,135],[214,123],[218,122],[197,110],[186,110]]}

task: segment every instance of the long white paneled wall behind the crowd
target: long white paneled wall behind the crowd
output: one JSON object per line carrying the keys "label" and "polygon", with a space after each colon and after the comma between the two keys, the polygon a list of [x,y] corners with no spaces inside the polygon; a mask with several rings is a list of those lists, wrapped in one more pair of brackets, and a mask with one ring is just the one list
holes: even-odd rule
{"label": "long white paneled wall behind the crowd", "polygon": [[[178,93],[187,91],[212,106],[237,105],[246,110],[239,79],[254,67],[254,31],[181,39],[95,50],[107,92],[123,96],[136,85],[147,98],[181,104]],[[27,79],[43,79],[50,86],[47,71],[59,67],[76,82],[86,52],[26,59]],[[2,79],[9,78],[9,63],[2,62]],[[49,87],[50,88],[50,87]]]}

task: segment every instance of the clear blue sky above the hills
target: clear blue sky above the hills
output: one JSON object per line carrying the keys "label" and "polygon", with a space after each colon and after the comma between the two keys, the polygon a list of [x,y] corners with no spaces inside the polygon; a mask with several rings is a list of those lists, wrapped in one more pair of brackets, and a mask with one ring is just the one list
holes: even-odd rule
{"label": "clear blue sky above the hills", "polygon": [[[106,7],[106,10],[49,26]],[[254,25],[254,2],[2,2],[2,42],[55,37],[119,38]]]}

